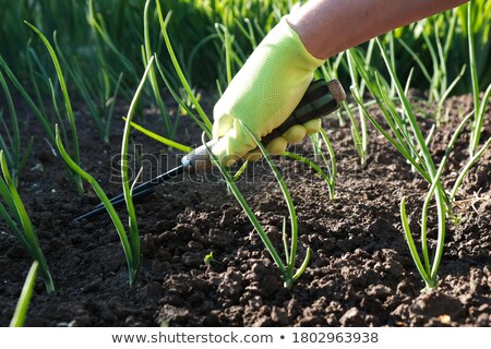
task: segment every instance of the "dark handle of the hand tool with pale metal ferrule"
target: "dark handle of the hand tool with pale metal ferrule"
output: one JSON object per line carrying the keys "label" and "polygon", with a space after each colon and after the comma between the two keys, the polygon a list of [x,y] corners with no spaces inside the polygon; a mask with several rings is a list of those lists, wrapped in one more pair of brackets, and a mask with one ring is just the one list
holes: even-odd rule
{"label": "dark handle of the hand tool with pale metal ferrule", "polygon": [[[339,108],[346,93],[338,80],[318,80],[310,84],[297,108],[278,128],[265,135],[261,143],[266,146],[274,139],[282,136],[292,125],[326,116]],[[208,148],[213,149],[216,141],[212,140],[195,148],[182,158],[182,164],[196,172],[204,172],[211,166]]]}

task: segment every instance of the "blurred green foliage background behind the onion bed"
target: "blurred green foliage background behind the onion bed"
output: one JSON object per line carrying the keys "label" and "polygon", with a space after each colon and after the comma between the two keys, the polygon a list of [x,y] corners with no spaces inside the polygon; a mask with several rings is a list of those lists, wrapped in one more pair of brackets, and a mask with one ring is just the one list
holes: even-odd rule
{"label": "blurred green foliage background behind the onion bed", "polygon": [[[100,35],[89,24],[88,0],[0,0],[0,55],[12,67],[14,72],[26,80],[27,47],[37,52],[39,62],[37,71],[49,69],[47,53],[33,33],[24,24],[27,21],[37,26],[48,38],[57,32],[59,46],[69,57],[75,57],[84,70],[94,72],[100,69],[96,56],[103,53],[110,62],[107,69],[117,76],[121,71],[143,71],[141,45],[143,44],[143,9],[142,0],[94,0],[95,17],[110,38],[120,55],[116,55]],[[477,69],[480,85],[483,88],[491,82],[490,62],[490,23],[491,2],[474,0],[472,34],[477,46]],[[253,49],[246,32],[259,41],[280,19],[288,13],[298,1],[292,0],[168,0],[161,1],[164,11],[172,11],[169,21],[169,33],[178,56],[191,74],[192,83],[197,86],[214,85],[216,79],[223,79],[224,58],[221,43],[217,37],[215,24],[221,24],[233,38],[235,51],[244,59]],[[155,5],[153,5],[155,9]],[[152,10],[151,37],[153,49],[164,55],[157,19]],[[457,16],[451,50],[445,61],[448,81],[455,79],[464,64],[468,64],[467,29],[465,9],[448,11],[426,21],[411,24],[394,32],[394,52],[396,69],[404,79],[414,67],[414,60],[399,45],[403,39],[419,56],[421,61],[432,64],[431,51],[423,36],[427,35],[438,50],[438,40],[444,43],[448,36],[452,17]],[[207,39],[206,39],[207,38]],[[99,46],[98,46],[99,45]],[[363,49],[364,46],[361,46]],[[127,60],[122,60],[124,57]],[[164,60],[165,61],[165,60]],[[381,65],[375,58],[374,65]],[[237,70],[237,68],[236,68]],[[51,72],[47,73],[52,75]],[[125,74],[127,79],[136,80],[137,74]],[[343,72],[340,73],[343,76]],[[429,83],[416,69],[414,85],[428,88]],[[470,92],[470,77],[455,89],[456,93]]]}

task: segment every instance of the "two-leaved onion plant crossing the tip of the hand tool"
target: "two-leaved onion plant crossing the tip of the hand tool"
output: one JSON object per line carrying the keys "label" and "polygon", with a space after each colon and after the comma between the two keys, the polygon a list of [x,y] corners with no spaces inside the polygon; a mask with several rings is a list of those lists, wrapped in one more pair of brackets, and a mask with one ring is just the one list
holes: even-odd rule
{"label": "two-leaved onion plant crossing the tip of the hand tool", "polygon": [[[129,141],[130,141],[130,124],[132,122],[132,118],[136,108],[136,103],[140,98],[140,95],[143,89],[143,85],[148,76],[151,64],[153,64],[154,59],[153,57],[149,59],[148,64],[145,69],[145,72],[143,74],[143,77],[140,82],[139,87],[136,88],[136,92],[134,94],[133,100],[131,101],[130,108],[128,110],[128,116],[125,118],[125,124],[124,124],[124,132],[123,132],[123,139],[122,139],[122,145],[121,145],[121,180],[122,180],[122,189],[124,193],[124,201],[127,204],[127,212],[129,216],[128,220],[128,232],[116,212],[115,207],[112,206],[110,200],[104,192],[100,184],[97,182],[97,180],[87,173],[85,170],[83,170],[75,161],[72,160],[68,152],[64,149],[64,146],[62,144],[59,128],[57,125],[57,146],[58,149],[63,157],[64,161],[68,164],[70,168],[73,169],[76,173],[81,176],[82,179],[87,181],[94,191],[96,192],[97,196],[106,207],[106,210],[108,212],[112,224],[115,225],[115,228],[118,232],[119,239],[122,244],[122,249],[124,252],[124,256],[127,258],[128,264],[128,273],[129,273],[129,284],[130,286],[133,286],[137,279],[140,264],[141,264],[141,253],[140,253],[140,234],[139,234],[139,227],[136,221],[136,213],[133,205],[133,197],[132,197],[132,185],[130,185],[130,178],[128,176],[128,147],[129,147]],[[134,181],[136,182],[136,180]]]}

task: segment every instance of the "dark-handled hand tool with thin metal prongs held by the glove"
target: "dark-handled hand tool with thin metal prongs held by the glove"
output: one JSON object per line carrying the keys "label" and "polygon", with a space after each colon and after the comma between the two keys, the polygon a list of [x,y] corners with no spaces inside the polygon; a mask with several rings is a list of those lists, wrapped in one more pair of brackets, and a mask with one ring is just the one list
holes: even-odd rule
{"label": "dark-handled hand tool with thin metal prongs held by the glove", "polygon": [[[312,82],[294,112],[282,125],[264,136],[261,140],[261,143],[265,146],[277,136],[280,136],[292,125],[302,124],[309,120],[320,118],[335,111],[345,99],[346,94],[339,81],[331,80],[330,82],[326,82],[325,80],[316,80]],[[155,190],[156,185],[179,176],[183,171],[206,171],[212,163],[208,148],[213,148],[215,142],[215,140],[212,140],[208,143],[201,145],[191,153],[187,154],[182,158],[181,165],[178,167],[133,188],[133,200],[151,194]],[[120,194],[115,196],[110,200],[110,202],[115,207],[120,206],[124,203],[124,195]],[[74,221],[92,218],[105,210],[106,207],[103,203],[100,203],[93,210],[76,217]]]}

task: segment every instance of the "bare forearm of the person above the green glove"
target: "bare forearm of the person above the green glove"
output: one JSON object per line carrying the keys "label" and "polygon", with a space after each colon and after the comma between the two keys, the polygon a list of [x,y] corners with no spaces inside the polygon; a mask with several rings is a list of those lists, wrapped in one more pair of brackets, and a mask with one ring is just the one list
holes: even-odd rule
{"label": "bare forearm of the person above the green glove", "polygon": [[310,0],[289,16],[306,48],[326,59],[468,0]]}

